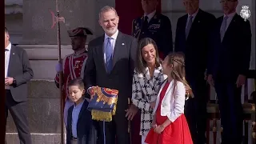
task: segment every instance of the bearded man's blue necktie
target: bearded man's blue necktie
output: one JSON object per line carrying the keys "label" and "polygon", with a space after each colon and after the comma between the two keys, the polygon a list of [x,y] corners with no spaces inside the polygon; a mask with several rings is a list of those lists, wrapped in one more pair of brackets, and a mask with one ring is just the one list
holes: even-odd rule
{"label": "bearded man's blue necktie", "polygon": [[113,38],[107,38],[107,42],[106,42],[106,46],[105,46],[105,54],[106,54],[106,70],[108,73],[111,72],[112,68],[113,68],[113,47],[111,44],[111,39]]}

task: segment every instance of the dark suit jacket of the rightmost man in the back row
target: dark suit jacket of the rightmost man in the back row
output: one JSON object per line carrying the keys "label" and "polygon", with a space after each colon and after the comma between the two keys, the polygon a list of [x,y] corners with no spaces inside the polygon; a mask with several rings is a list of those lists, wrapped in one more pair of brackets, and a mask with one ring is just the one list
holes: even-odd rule
{"label": "dark suit jacket of the rightmost man in the back row", "polygon": [[221,42],[220,28],[223,16],[215,22],[209,57],[208,74],[221,76],[234,83],[238,74],[246,75],[250,68],[251,30],[249,20],[244,21],[238,14],[230,22]]}

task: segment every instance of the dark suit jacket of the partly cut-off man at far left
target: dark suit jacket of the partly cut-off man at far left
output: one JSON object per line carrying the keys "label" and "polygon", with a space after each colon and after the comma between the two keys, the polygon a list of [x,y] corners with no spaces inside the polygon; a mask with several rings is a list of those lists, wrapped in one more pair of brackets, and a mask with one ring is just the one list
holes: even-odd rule
{"label": "dark suit jacket of the partly cut-off man at far left", "polygon": [[26,82],[34,76],[26,51],[20,47],[11,46],[7,77],[16,79],[16,84],[10,86],[11,95],[16,102],[26,101],[28,90]]}

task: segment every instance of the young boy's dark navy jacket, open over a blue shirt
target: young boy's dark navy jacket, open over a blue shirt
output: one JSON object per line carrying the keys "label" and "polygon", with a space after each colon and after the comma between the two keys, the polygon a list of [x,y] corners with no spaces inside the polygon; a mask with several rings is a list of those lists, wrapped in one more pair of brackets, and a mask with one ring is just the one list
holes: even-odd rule
{"label": "young boy's dark navy jacket, open over a blue shirt", "polygon": [[[87,110],[88,102],[86,99],[82,104],[78,116],[77,124],[77,135],[78,144],[96,144],[97,143],[97,132],[94,127],[93,120],[91,119],[90,111]],[[67,116],[67,131],[66,131],[66,144],[71,144],[72,139],[72,112],[74,106],[71,106],[68,110]]]}

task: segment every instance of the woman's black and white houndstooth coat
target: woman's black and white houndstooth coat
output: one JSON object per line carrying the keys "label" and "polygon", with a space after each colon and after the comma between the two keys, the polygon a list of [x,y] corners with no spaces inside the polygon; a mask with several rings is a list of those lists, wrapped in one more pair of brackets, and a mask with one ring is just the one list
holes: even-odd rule
{"label": "woman's black and white houndstooth coat", "polygon": [[150,102],[154,102],[158,97],[158,89],[167,78],[162,74],[162,66],[155,68],[154,77],[150,79],[150,71],[146,68],[145,74],[139,74],[134,70],[132,86],[132,102],[141,110],[140,135],[147,133],[153,121],[153,109]]}

